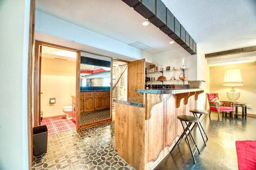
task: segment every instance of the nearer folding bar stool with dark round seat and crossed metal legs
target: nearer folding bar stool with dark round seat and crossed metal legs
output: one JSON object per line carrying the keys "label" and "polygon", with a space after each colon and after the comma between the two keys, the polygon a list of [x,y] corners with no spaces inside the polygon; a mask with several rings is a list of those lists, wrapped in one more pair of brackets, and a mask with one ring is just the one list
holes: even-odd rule
{"label": "nearer folding bar stool with dark round seat and crossed metal legs", "polygon": [[[194,146],[191,147],[190,145],[190,141],[188,139],[188,145],[189,145],[189,148],[190,148],[190,152],[192,154],[192,157],[193,157],[193,160],[194,160],[194,163],[196,163],[196,160],[195,160],[195,157],[194,157],[194,154],[196,152],[196,150],[198,150],[199,154],[200,154],[200,150],[198,149],[197,145],[196,145],[196,141],[189,129],[190,125],[192,123],[198,123],[199,122],[199,119],[197,117],[194,117],[194,116],[190,116],[190,115],[178,115],[177,118],[180,120],[181,124],[182,124],[182,127],[184,129],[184,131],[182,132],[182,135],[180,135],[180,138],[178,139],[178,141],[175,143],[174,147],[172,148],[172,150],[180,143],[180,141],[182,140],[182,138],[184,137],[184,135],[186,135],[186,138],[188,139],[188,135],[190,135],[193,139],[193,142],[194,142]],[[184,127],[184,123],[182,123],[182,121],[184,121],[186,123],[186,128]],[[188,131],[188,134],[187,134],[187,131]],[[170,152],[172,152],[172,150]],[[194,151],[193,151],[194,150]]]}

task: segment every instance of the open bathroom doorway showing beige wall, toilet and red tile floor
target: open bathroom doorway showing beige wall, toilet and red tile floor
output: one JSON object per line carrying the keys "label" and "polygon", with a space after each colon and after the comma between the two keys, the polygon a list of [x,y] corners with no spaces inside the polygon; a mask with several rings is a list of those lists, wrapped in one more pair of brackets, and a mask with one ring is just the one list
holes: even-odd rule
{"label": "open bathroom doorway showing beige wall, toilet and red tile floor", "polygon": [[[76,52],[40,46],[40,115],[48,136],[76,129],[72,97],[76,96]],[[62,111],[66,108],[66,113]]]}

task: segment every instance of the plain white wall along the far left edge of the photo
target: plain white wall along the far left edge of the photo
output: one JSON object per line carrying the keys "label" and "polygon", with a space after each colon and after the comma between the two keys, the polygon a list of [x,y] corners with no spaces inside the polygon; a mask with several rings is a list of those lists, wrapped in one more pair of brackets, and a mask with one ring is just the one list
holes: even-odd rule
{"label": "plain white wall along the far left edge of the photo", "polygon": [[29,0],[0,1],[0,169],[28,169]]}

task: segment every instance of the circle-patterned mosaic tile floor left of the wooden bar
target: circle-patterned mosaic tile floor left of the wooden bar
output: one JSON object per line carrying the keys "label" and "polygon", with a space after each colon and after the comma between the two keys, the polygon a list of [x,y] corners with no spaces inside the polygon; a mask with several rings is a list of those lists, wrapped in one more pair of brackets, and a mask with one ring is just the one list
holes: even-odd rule
{"label": "circle-patterned mosaic tile floor left of the wooden bar", "polygon": [[47,152],[32,170],[134,170],[115,150],[114,121],[48,137]]}

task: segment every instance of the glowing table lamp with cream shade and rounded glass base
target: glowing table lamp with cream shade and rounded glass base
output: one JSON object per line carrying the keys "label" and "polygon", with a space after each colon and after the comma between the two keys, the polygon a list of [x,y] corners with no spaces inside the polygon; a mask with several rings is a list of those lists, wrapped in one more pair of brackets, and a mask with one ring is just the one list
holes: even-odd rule
{"label": "glowing table lamp with cream shade and rounded glass base", "polygon": [[223,86],[231,86],[231,90],[226,94],[230,102],[236,102],[240,97],[240,92],[236,92],[235,86],[243,86],[241,70],[239,68],[225,70]]}

